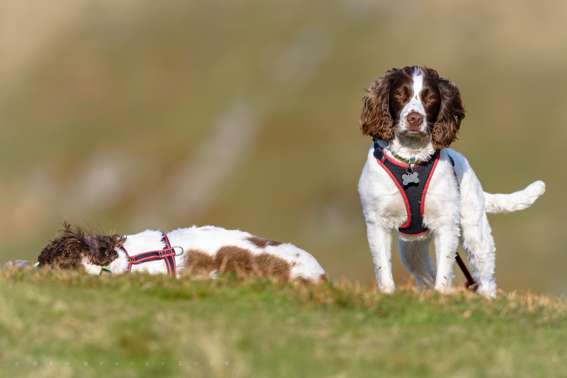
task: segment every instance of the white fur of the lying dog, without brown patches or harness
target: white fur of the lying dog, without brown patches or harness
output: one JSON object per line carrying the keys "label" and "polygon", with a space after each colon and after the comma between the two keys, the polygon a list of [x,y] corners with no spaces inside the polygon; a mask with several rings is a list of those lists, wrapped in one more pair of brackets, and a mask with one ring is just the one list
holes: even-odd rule
{"label": "white fur of the lying dog, without brown patches or harness", "polygon": [[[171,246],[179,245],[185,251],[196,249],[200,252],[209,253],[215,256],[217,251],[226,246],[236,246],[250,250],[253,254],[270,253],[274,256],[283,258],[290,263],[290,278],[304,278],[318,281],[325,274],[319,262],[311,254],[299,249],[292,244],[266,245],[265,248],[258,248],[247,240],[252,235],[248,232],[239,230],[225,230],[221,227],[204,226],[179,228],[166,234]],[[138,253],[148,252],[164,248],[162,233],[160,231],[146,230],[136,235],[127,235],[124,248],[130,256]],[[121,249],[117,249],[119,258],[111,264],[113,274],[128,273],[128,260],[126,254]],[[177,273],[183,271],[184,258],[176,256]],[[191,261],[188,262],[191,264]],[[92,274],[100,273],[100,265],[92,265],[83,262],[87,271]],[[132,265],[133,273],[167,274],[167,265],[164,260],[155,260]],[[215,277],[217,272],[211,272],[211,277]]]}

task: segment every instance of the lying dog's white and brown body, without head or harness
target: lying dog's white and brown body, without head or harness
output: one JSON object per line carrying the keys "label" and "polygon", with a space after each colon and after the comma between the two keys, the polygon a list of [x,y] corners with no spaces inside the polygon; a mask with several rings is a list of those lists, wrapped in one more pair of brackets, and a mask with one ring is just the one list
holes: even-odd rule
{"label": "lying dog's white and brown body, without head or harness", "polygon": [[[176,258],[177,271],[189,271],[216,277],[232,272],[239,275],[259,274],[280,279],[319,280],[325,271],[311,254],[292,244],[263,239],[239,230],[204,226],[179,228],[168,232],[171,245],[183,248]],[[162,232],[147,230],[126,236],[124,249],[130,256],[163,248]],[[116,273],[128,270],[122,250],[116,262]],[[113,273],[115,269],[112,269]],[[133,272],[164,273],[163,261],[132,266]]]}

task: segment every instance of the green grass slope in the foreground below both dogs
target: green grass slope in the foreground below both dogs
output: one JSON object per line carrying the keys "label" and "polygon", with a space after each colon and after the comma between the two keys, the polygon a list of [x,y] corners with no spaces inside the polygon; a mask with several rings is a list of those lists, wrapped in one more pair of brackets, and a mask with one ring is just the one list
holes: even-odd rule
{"label": "green grass slope in the foreground below both dogs", "polygon": [[0,287],[3,376],[567,375],[561,297],[69,271]]}

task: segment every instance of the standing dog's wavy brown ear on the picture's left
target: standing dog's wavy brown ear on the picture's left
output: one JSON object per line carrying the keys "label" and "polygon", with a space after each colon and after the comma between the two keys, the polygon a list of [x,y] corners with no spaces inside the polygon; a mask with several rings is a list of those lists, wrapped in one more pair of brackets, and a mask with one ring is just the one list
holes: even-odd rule
{"label": "standing dog's wavy brown ear on the picture's left", "polygon": [[395,83],[392,68],[386,74],[374,80],[366,96],[362,97],[364,105],[360,112],[360,130],[364,135],[370,135],[382,141],[394,138],[392,116],[390,115],[390,90]]}

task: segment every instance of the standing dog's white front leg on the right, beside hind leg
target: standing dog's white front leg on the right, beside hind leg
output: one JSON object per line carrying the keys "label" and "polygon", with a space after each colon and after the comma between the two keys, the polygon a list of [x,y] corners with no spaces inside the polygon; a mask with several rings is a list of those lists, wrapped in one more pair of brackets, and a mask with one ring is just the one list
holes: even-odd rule
{"label": "standing dog's white front leg on the right, beside hind leg", "polygon": [[459,245],[459,225],[443,224],[434,231],[435,260],[437,260],[437,277],[435,290],[452,292],[453,263]]}

